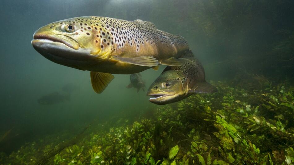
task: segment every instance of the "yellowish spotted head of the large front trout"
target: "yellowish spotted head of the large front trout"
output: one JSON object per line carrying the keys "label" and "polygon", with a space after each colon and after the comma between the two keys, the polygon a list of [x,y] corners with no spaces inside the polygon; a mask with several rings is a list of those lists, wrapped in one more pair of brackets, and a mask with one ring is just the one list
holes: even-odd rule
{"label": "yellowish spotted head of the large front trout", "polygon": [[[104,23],[91,17],[76,17],[50,23],[33,35],[32,45],[40,54],[58,64],[79,69],[110,53],[110,33]],[[103,28],[103,29],[102,29]]]}

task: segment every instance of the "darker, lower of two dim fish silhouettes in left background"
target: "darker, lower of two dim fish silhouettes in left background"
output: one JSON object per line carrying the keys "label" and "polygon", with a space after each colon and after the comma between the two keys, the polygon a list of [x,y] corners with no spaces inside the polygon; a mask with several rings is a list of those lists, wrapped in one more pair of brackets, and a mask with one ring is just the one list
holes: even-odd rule
{"label": "darker, lower of two dim fish silhouettes in left background", "polygon": [[58,92],[53,92],[53,93],[44,95],[38,99],[39,104],[45,104],[45,105],[62,103],[65,101],[70,101],[70,94],[69,93],[62,95]]}

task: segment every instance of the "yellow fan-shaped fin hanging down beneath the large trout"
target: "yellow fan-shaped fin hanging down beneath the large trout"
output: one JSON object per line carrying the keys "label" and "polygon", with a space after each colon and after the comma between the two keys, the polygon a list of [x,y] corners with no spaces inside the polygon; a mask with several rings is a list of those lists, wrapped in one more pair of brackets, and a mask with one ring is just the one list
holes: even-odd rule
{"label": "yellow fan-shaped fin hanging down beneath the large trout", "polygon": [[91,83],[96,93],[102,93],[113,79],[114,76],[109,73],[91,72]]}

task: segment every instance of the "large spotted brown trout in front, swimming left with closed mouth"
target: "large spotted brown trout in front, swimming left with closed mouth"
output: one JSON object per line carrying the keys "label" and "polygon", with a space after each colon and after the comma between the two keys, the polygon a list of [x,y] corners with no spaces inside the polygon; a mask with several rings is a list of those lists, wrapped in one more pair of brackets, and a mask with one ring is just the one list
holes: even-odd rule
{"label": "large spotted brown trout in front, swimming left with closed mouth", "polygon": [[33,47],[47,59],[91,71],[97,93],[114,78],[111,74],[156,70],[159,64],[179,66],[177,58],[189,49],[183,37],[140,19],[76,17],[45,25],[33,37]]}

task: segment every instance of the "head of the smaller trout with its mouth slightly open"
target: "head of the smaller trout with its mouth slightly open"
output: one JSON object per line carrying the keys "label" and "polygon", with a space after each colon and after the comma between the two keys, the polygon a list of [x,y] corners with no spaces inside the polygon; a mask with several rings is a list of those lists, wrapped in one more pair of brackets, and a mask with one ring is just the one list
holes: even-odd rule
{"label": "head of the smaller trout with its mouth slightly open", "polygon": [[180,100],[185,94],[184,85],[174,70],[163,72],[149,87],[147,95],[154,104],[170,104]]}

